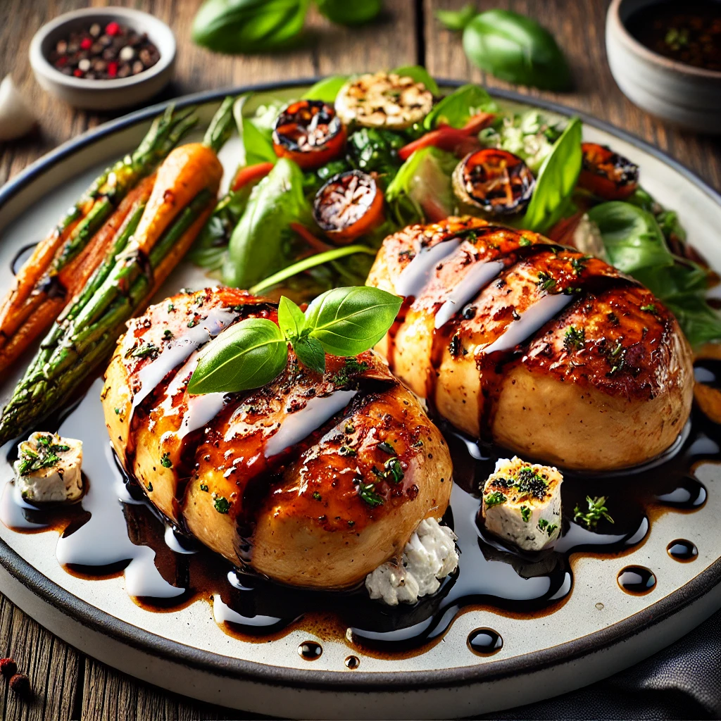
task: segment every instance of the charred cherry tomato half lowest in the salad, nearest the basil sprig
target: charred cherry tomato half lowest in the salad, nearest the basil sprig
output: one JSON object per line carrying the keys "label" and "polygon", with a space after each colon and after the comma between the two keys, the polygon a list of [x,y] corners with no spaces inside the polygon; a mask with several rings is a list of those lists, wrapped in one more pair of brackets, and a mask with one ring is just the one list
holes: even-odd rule
{"label": "charred cherry tomato half lowest in the salad, nearest the basil sprig", "polygon": [[316,193],[313,217],[330,240],[349,243],[384,221],[383,193],[368,173],[340,173]]}

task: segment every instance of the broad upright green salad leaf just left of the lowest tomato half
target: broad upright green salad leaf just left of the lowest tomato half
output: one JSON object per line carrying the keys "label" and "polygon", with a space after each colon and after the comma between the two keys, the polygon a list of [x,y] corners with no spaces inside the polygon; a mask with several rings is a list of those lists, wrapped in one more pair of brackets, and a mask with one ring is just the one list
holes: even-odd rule
{"label": "broad upright green salad leaf just left of the lowest tomato half", "polygon": [[293,222],[310,223],[301,169],[281,158],[252,190],[247,208],[231,235],[223,281],[248,288],[291,261]]}

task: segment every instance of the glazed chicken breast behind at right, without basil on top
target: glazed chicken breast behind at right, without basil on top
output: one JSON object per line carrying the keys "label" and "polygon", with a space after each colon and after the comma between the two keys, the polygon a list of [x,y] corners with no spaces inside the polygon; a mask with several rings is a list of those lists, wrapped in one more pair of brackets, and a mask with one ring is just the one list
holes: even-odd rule
{"label": "glazed chicken breast behind at right, without basil on top", "polygon": [[691,351],[646,288],[479,218],[389,236],[368,285],[404,296],[376,350],[439,415],[570,469],[640,464],[691,410]]}

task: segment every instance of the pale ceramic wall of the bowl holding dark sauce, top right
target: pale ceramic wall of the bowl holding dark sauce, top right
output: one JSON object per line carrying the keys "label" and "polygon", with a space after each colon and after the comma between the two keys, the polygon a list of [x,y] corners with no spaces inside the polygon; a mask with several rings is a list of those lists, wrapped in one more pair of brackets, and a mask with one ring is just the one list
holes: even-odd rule
{"label": "pale ceramic wall of the bowl holding dark sauce, top right", "polygon": [[658,0],[613,0],[606,15],[606,52],[619,88],[652,115],[699,133],[721,133],[721,72],[654,53],[627,30],[629,17]]}

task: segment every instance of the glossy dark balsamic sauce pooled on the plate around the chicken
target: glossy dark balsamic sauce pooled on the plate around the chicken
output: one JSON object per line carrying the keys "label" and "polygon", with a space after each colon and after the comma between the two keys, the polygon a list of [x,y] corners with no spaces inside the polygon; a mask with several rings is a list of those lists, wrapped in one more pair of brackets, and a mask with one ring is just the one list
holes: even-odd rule
{"label": "glossy dark balsamic sauce pooled on the plate around the chicken", "polygon": [[[696,378],[718,387],[721,362],[699,361]],[[659,513],[701,508],[707,489],[694,476],[694,467],[702,461],[721,462],[715,440],[719,426],[694,405],[684,432],[659,459],[611,474],[566,472],[562,536],[553,549],[526,553],[485,534],[479,522],[480,488],[496,459],[512,454],[482,446],[441,425],[455,476],[444,520],[458,536],[459,570],[433,596],[421,598],[414,606],[389,607],[371,601],[363,586],[340,592],[281,586],[234,569],[179,534],[146,503],[136,482],[123,477],[107,440],[100,387],[97,381],[76,407],[45,424],[46,430],[57,429],[61,435],[84,441],[87,491],[81,502],[69,508],[38,510],[19,497],[12,483],[6,483],[0,519],[18,531],[60,531],[56,555],[68,572],[84,578],[124,572],[128,593],[150,611],[172,612],[205,598],[212,603],[216,622],[243,640],[268,640],[298,628],[317,632],[322,619],[325,637],[345,634],[367,652],[420,653],[443,637],[459,612],[473,606],[526,616],[547,614],[572,593],[571,554],[618,556],[644,541]],[[16,452],[13,446],[9,461]],[[575,506],[583,508],[587,495],[608,497],[614,523],[601,519],[589,530],[573,521]],[[681,541],[676,539],[669,554],[692,560],[696,548],[685,549]],[[619,585],[629,593],[653,593],[655,578],[647,578],[635,567],[629,569],[623,578],[619,575]],[[474,640],[469,638],[475,653],[492,653],[503,643],[493,629],[480,631]],[[312,660],[322,648],[303,648],[298,653]],[[355,668],[354,660],[348,668]]]}

